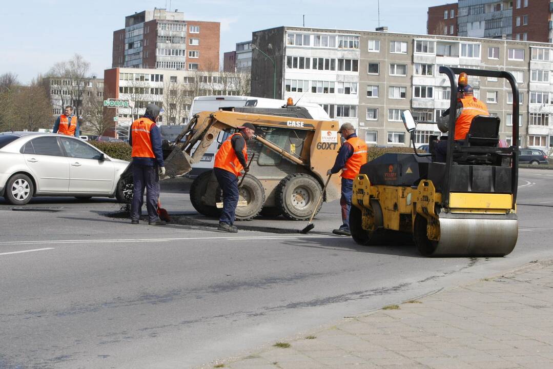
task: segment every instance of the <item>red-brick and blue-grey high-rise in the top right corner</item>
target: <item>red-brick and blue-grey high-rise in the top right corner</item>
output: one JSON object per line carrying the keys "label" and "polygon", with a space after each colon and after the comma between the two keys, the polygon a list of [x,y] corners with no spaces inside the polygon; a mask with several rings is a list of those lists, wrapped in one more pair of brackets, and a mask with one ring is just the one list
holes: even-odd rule
{"label": "red-brick and blue-grey high-rise in the top right corner", "polygon": [[[550,43],[552,12],[551,0],[459,0],[429,7],[426,30],[435,35]],[[457,33],[452,33],[455,28]]]}

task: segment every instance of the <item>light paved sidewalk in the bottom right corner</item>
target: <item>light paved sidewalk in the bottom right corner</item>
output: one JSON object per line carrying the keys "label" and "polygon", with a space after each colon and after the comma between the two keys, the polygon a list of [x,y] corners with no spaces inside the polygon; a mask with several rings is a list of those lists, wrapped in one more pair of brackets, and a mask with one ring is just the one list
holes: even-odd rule
{"label": "light paved sidewalk in the bottom right corner", "polygon": [[[553,261],[281,340],[231,369],[553,368]],[[275,342],[276,343],[276,342]]]}

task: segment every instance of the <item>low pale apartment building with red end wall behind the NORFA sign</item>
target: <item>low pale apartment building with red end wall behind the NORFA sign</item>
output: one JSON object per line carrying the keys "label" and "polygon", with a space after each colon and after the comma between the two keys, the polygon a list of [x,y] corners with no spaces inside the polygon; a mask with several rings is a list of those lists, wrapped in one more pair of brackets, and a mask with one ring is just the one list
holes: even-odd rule
{"label": "low pale apartment building with red end wall behind the NORFA sign", "polygon": [[105,115],[116,117],[119,138],[127,138],[129,124],[144,114],[149,103],[163,108],[159,124],[185,124],[194,97],[236,96],[249,88],[239,75],[228,72],[134,67],[106,69],[104,85],[106,99],[129,102],[128,107],[105,108]]}

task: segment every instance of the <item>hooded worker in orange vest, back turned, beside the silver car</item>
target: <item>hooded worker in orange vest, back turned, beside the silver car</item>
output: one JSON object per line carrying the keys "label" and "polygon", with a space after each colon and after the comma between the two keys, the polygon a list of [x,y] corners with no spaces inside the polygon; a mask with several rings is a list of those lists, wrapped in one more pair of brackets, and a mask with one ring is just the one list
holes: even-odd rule
{"label": "hooded worker in orange vest, back turned, beside the silver car", "polygon": [[149,104],[142,118],[131,125],[129,145],[132,147],[131,163],[133,173],[133,200],[131,202],[131,223],[138,224],[142,213],[144,189],[148,224],[163,226],[165,221],[158,216],[159,176],[165,175],[163,150],[161,149],[161,132],[155,124],[159,107]]}

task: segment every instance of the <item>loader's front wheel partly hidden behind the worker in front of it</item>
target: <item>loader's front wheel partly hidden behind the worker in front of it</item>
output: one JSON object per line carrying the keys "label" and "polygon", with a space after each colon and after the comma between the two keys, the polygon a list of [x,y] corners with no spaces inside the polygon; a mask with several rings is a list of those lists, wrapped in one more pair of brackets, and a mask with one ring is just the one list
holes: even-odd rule
{"label": "loader's front wheel partly hidden behind the worker in front of it", "polygon": [[[238,178],[238,183],[242,178]],[[223,191],[217,189],[217,202],[223,201]],[[238,201],[248,201],[247,206],[238,206],[234,214],[235,220],[252,220],[259,215],[265,203],[265,189],[261,182],[251,174],[246,178],[238,189]]]}

